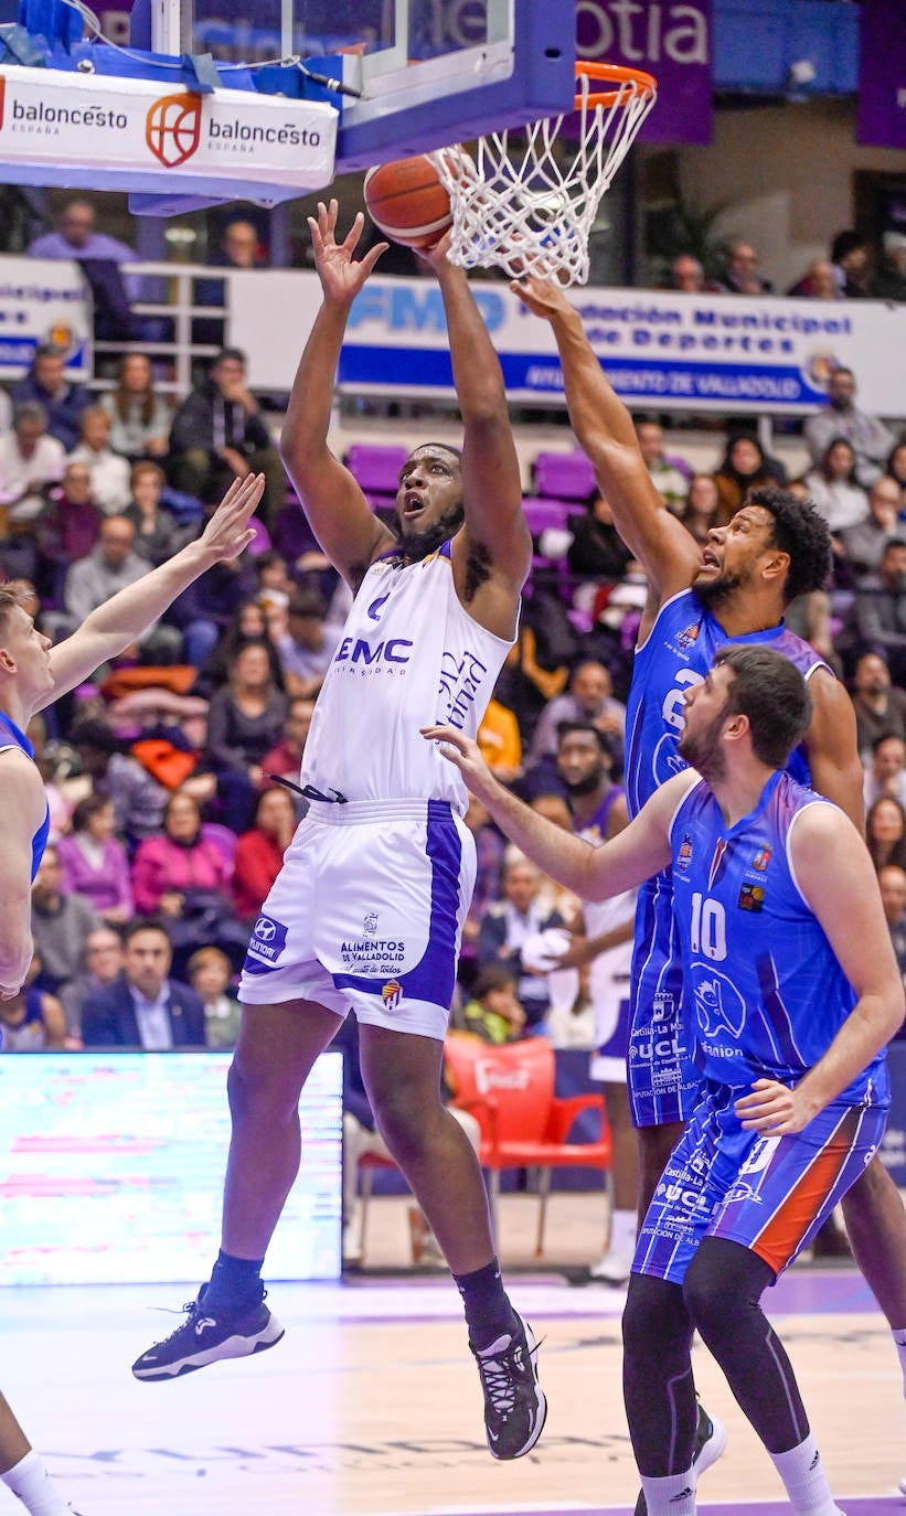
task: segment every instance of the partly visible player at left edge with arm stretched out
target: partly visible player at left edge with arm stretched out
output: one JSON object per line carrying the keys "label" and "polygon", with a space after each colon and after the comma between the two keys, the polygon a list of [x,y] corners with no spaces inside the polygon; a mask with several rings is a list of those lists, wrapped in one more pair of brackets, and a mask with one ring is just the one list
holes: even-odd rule
{"label": "partly visible player at left edge with arm stretched out", "polygon": [[[121,590],[56,647],[35,628],[24,587],[0,585],[0,999],[18,994],[32,961],[32,879],[50,828],[26,726],[129,647],[200,573],[236,558],[255,537],[248,517],[262,490],[261,476],[236,481],[197,543]],[[73,1516],[2,1395],[0,1480],[33,1516]]]}

